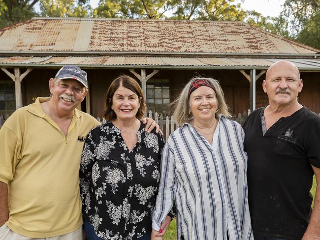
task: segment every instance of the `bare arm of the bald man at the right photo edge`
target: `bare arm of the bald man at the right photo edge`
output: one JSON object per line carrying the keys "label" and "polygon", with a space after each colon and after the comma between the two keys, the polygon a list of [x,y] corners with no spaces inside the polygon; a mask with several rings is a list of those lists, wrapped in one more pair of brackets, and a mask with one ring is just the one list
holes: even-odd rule
{"label": "bare arm of the bald man at the right photo edge", "polygon": [[317,189],[310,222],[302,240],[320,240],[320,168],[312,166],[312,169],[316,176]]}

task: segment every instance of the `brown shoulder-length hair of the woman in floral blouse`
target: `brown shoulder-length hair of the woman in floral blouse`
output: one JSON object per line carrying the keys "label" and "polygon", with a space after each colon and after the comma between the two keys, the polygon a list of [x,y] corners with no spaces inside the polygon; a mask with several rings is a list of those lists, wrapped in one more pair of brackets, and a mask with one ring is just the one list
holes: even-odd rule
{"label": "brown shoulder-length hair of the woman in floral blouse", "polygon": [[112,106],[113,95],[120,86],[126,89],[129,89],[138,95],[140,107],[135,117],[137,119],[143,118],[146,112],[146,103],[144,101],[144,96],[143,96],[141,87],[133,78],[129,77],[128,75],[121,75],[116,79],[114,79],[110,84],[110,87],[108,88],[105,96],[106,110],[102,113],[102,118],[104,118],[107,121],[115,120],[117,118],[117,115],[111,109],[111,106]]}

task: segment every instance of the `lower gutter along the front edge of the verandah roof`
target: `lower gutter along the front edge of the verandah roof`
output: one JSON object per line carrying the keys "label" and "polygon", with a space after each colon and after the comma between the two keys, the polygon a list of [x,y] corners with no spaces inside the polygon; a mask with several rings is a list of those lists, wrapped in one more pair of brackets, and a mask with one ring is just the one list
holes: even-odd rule
{"label": "lower gutter along the front edge of the verandah roof", "polygon": [[[0,67],[32,67],[32,68],[61,68],[65,64],[28,64],[28,63],[0,63]],[[207,69],[207,70],[266,70],[269,66],[160,66],[160,65],[89,65],[89,64],[77,64],[81,68],[90,68],[90,69],[174,69],[174,70],[196,70],[196,69]],[[300,71],[309,71],[309,72],[320,72],[320,69],[315,68],[299,68]]]}

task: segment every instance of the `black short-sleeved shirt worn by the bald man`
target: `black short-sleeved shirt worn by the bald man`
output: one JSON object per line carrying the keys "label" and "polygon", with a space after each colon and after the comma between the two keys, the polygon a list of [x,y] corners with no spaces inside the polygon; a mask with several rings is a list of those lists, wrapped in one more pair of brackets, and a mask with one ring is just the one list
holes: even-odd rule
{"label": "black short-sleeved shirt worn by the bald man", "polygon": [[311,164],[320,168],[320,117],[302,107],[263,135],[264,109],[244,124],[252,227],[268,237],[301,239],[311,215]]}

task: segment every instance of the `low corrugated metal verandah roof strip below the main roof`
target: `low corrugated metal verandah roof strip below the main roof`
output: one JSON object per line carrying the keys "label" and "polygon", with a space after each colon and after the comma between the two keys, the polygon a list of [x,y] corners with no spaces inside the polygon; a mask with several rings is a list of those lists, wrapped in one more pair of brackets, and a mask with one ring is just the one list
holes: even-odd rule
{"label": "low corrugated metal verandah roof strip below the main roof", "polygon": [[[91,56],[91,57],[7,57],[0,58],[0,66],[11,67],[60,67],[75,64],[90,68],[233,68],[267,69],[281,59],[258,58],[208,58],[208,57],[132,57],[132,56]],[[300,70],[320,72],[320,59],[283,59],[292,61]]]}

